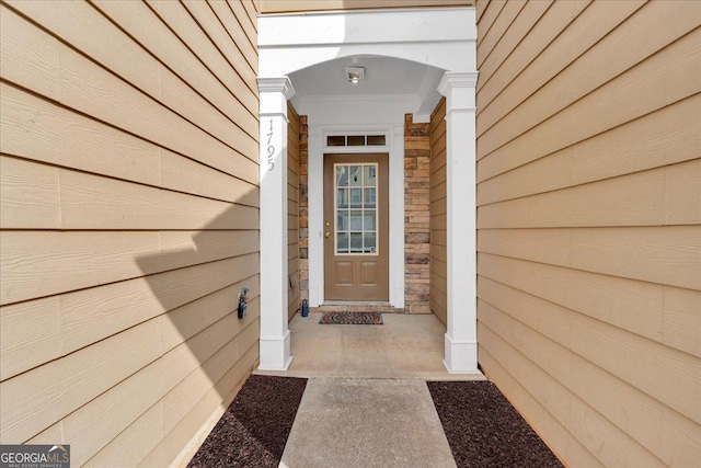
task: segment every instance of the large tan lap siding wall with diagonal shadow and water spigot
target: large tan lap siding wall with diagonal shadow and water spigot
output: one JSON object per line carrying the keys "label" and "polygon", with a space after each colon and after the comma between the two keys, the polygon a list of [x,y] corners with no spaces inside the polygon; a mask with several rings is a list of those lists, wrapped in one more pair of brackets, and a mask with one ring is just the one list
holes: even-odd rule
{"label": "large tan lap siding wall with diagonal shadow and water spigot", "polygon": [[255,5],[0,10],[0,441],[168,466],[258,357]]}

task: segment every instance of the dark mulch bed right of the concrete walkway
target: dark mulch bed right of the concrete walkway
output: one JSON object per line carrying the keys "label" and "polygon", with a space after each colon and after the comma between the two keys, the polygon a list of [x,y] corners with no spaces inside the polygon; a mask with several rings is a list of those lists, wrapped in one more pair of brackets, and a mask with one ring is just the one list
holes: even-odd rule
{"label": "dark mulch bed right of the concrete walkway", "polygon": [[429,381],[458,467],[562,467],[490,381]]}

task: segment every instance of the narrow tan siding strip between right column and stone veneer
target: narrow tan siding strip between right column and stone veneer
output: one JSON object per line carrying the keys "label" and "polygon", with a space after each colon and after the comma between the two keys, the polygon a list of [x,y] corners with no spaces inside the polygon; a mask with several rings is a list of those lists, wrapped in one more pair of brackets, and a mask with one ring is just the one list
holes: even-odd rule
{"label": "narrow tan siding strip between right column and stone veneer", "polygon": [[430,116],[430,310],[448,320],[446,231],[446,100]]}

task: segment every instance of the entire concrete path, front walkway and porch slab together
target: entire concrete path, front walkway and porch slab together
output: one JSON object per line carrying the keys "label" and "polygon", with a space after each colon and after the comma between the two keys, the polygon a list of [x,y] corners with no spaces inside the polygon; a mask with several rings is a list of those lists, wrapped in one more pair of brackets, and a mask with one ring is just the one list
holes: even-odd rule
{"label": "entire concrete path, front walkway and porch slab together", "polygon": [[256,374],[309,378],[280,467],[455,467],[426,380],[443,364],[445,326],[433,315],[382,313],[382,326],[292,318],[292,363]]}

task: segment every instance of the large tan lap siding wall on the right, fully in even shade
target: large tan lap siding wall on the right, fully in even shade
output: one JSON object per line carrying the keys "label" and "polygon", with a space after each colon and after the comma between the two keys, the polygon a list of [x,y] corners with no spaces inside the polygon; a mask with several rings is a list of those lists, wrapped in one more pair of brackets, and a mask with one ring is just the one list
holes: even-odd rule
{"label": "large tan lap siding wall on the right, fully in even shade", "polygon": [[478,2],[480,364],[571,466],[692,466],[701,3],[524,3]]}

